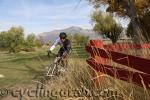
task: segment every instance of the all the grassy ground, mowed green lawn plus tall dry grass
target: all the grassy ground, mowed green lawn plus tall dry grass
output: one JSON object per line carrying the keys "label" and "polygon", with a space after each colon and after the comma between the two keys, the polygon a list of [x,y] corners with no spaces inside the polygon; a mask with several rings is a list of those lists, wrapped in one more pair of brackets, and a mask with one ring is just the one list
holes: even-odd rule
{"label": "all the grassy ground, mowed green lawn plus tall dry grass", "polygon": [[[60,89],[80,89],[84,88],[90,93],[95,90],[109,89],[118,91],[121,94],[119,97],[90,97],[84,95],[83,97],[58,97],[49,98],[50,100],[149,100],[149,92],[143,88],[134,86],[131,83],[119,81],[105,75],[105,79],[100,81],[100,84],[95,85],[90,67],[85,60],[88,54],[84,51],[84,47],[73,44],[73,52],[69,59],[68,71],[54,81],[45,83],[48,89],[60,91]],[[37,48],[35,52],[19,52],[8,53],[7,51],[0,52],[0,78],[1,88],[35,88],[36,82],[40,82],[41,75],[43,75],[44,68],[52,63],[54,57],[47,57],[48,47]],[[57,52],[54,51],[55,53]],[[117,92],[117,93],[118,93]],[[0,100],[18,100],[12,99],[11,96],[0,98]],[[26,98],[25,100],[49,100],[47,98]],[[23,100],[24,100],[23,99]]]}

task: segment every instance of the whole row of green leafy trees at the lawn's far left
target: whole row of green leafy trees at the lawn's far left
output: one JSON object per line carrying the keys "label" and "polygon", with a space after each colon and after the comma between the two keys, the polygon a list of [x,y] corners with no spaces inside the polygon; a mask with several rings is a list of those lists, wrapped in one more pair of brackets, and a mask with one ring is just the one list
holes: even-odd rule
{"label": "whole row of green leafy trees at the lawn's far left", "polygon": [[20,26],[11,27],[8,31],[0,33],[0,49],[9,50],[10,52],[33,51],[33,47],[41,47],[43,44],[43,38],[36,38],[33,33],[25,38],[24,29]]}

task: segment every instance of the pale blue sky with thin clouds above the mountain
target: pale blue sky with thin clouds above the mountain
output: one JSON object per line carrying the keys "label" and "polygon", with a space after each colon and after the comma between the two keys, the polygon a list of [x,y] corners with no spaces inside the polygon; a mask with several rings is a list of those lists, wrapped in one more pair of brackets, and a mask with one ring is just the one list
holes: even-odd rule
{"label": "pale blue sky with thin clouds above the mountain", "polygon": [[[24,27],[25,34],[71,26],[92,29],[90,14],[93,10],[86,0],[0,0],[0,31],[12,26]],[[118,21],[127,25],[122,19]]]}

